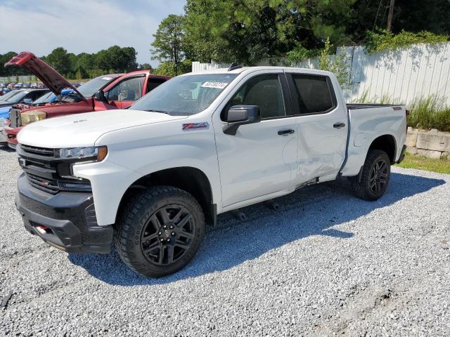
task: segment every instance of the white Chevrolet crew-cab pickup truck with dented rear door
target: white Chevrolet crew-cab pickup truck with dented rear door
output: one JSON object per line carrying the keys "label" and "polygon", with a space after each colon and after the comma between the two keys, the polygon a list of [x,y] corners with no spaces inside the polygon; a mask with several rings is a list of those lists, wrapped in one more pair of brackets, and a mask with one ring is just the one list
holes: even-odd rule
{"label": "white Chevrolet crew-cab pickup truck with dented rear door", "polygon": [[127,110],[25,127],[16,205],[52,246],[108,253],[114,241],[129,267],[160,277],[193,258],[219,213],[340,176],[380,198],[404,156],[406,113],[346,105],[330,72],[184,74]]}

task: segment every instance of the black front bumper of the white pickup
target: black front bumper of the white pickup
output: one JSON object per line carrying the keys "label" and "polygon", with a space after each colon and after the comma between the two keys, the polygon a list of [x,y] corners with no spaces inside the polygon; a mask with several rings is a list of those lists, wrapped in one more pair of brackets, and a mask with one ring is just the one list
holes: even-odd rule
{"label": "black front bumper of the white pickup", "polygon": [[91,193],[49,194],[32,187],[23,173],[15,204],[25,228],[68,253],[109,253],[113,227],[98,226]]}

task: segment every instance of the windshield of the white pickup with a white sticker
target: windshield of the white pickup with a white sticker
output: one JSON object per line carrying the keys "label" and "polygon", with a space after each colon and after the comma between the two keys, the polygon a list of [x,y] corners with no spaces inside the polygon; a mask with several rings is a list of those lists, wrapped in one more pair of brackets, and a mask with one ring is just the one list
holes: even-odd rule
{"label": "windshield of the white pickup with a white sticker", "polygon": [[237,74],[198,74],[170,79],[129,107],[134,110],[197,114],[205,110]]}

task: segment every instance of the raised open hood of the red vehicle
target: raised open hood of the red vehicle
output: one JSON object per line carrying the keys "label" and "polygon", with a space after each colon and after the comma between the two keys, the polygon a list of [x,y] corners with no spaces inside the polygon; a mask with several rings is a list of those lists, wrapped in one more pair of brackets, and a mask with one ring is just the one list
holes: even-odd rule
{"label": "raised open hood of the red vehicle", "polygon": [[33,53],[23,51],[19,55],[14,56],[5,63],[5,67],[8,65],[18,65],[19,67],[25,67],[37,76],[43,84],[47,86],[55,95],[59,95],[65,88],[71,88],[79,98],[84,99],[83,95],[77,91],[75,86],[72,86],[59,72],[46,64],[43,60],[40,60]]}

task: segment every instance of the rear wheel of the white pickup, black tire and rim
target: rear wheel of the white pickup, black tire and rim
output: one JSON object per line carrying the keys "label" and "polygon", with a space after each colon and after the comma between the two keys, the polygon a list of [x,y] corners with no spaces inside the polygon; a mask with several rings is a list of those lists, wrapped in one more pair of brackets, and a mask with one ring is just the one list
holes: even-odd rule
{"label": "rear wheel of the white pickup, black tire and rim", "polygon": [[352,185],[356,197],[375,201],[386,191],[390,180],[391,163],[386,152],[369,150],[364,162],[361,181],[353,178]]}

